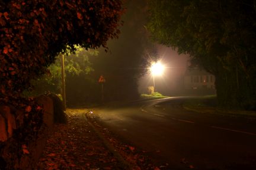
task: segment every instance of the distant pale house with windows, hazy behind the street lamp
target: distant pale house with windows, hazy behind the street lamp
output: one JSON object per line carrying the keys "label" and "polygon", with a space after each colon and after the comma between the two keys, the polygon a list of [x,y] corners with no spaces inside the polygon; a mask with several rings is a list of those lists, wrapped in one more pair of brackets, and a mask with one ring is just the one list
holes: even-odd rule
{"label": "distant pale house with windows, hazy behind the street lamp", "polygon": [[215,93],[215,76],[199,68],[188,68],[184,75],[184,89],[199,93]]}

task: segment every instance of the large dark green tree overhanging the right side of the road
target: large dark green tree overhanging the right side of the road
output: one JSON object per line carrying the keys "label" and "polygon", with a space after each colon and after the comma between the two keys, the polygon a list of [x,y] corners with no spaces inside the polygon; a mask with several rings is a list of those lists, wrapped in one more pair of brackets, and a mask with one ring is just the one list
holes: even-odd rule
{"label": "large dark green tree overhanging the right side of the road", "polygon": [[216,76],[223,106],[256,105],[255,1],[149,1],[152,39]]}

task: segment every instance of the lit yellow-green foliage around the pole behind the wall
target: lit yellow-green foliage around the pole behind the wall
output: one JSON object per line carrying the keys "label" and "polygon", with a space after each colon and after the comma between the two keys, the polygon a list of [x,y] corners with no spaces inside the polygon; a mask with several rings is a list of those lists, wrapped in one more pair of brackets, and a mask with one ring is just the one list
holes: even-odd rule
{"label": "lit yellow-green foliage around the pole behind the wall", "polygon": [[[64,55],[66,79],[69,79],[69,77],[79,77],[81,75],[85,76],[90,74],[91,71],[94,71],[91,62],[89,61],[89,57],[96,57],[98,51],[85,50],[85,48],[82,48],[79,45],[75,45],[75,48],[75,54],[68,51],[68,55]],[[25,96],[37,96],[39,94],[47,93],[47,91],[54,94],[61,93],[62,63],[60,57],[62,56],[59,56],[55,63],[48,67],[49,74],[45,74],[39,77],[39,79],[31,81],[33,89],[25,90]],[[73,84],[73,87],[76,87],[76,84]]]}

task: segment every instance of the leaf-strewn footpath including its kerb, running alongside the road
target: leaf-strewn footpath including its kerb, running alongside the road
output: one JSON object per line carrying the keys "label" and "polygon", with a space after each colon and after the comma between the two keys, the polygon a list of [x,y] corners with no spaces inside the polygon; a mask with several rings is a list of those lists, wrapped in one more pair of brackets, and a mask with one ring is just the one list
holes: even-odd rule
{"label": "leaf-strewn footpath including its kerb, running alongside the road", "polygon": [[67,124],[55,125],[36,169],[159,169],[93,122],[87,109],[68,109],[67,115]]}

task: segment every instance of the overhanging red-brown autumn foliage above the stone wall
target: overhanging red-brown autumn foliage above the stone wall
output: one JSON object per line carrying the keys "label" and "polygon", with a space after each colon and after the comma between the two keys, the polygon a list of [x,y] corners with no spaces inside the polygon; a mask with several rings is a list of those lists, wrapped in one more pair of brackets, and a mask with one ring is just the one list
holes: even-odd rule
{"label": "overhanging red-brown autumn foliage above the stone wall", "polygon": [[1,99],[19,96],[57,54],[74,51],[74,44],[106,47],[120,32],[121,5],[116,0],[1,1]]}

